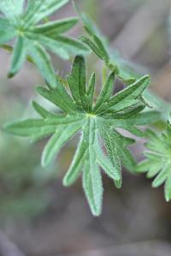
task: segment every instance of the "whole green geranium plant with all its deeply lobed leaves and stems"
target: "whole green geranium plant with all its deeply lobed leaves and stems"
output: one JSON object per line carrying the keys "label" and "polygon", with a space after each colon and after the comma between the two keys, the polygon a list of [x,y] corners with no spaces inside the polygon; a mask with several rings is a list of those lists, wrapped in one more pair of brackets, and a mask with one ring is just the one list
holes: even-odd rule
{"label": "whole green geranium plant with all its deeply lobed leaves and stems", "polygon": [[[9,78],[20,71],[26,60],[33,63],[46,84],[36,87],[36,92],[56,105],[56,111],[50,111],[32,102],[39,117],[9,122],[4,126],[5,131],[33,141],[50,137],[41,159],[46,168],[56,161],[62,146],[78,134],[80,141],[63,184],[72,185],[81,176],[85,197],[95,216],[102,211],[102,173],[114,181],[116,188],[121,188],[121,166],[133,174],[147,171],[148,177],[157,175],[153,187],[165,182],[165,197],[171,199],[170,124],[160,136],[145,130],[155,122],[166,123],[169,105],[164,103],[168,114],[163,115],[160,100],[148,89],[150,76],[139,74],[136,66],[116,56],[108,40],[78,8],[79,17],[49,20],[50,15],[68,2],[0,2],[0,46],[12,52]],[[64,33],[78,21],[83,23],[85,35],[79,39],[66,36]],[[74,58],[70,74],[60,77],[55,72],[48,51],[68,61]],[[90,77],[86,72],[89,54],[95,54],[105,69],[99,93],[94,70]],[[125,86],[116,93],[115,80],[121,80]],[[148,140],[146,146],[150,152],[144,152],[147,159],[137,165],[129,146],[139,137]]]}

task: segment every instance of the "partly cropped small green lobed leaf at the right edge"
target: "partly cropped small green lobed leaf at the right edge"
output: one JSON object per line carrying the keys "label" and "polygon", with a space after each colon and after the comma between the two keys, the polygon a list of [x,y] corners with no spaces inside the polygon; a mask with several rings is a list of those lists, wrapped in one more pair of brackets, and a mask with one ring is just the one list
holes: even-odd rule
{"label": "partly cropped small green lobed leaf at the right edge", "polygon": [[138,172],[147,172],[147,178],[155,177],[152,187],[157,188],[164,183],[165,199],[171,199],[171,125],[162,134],[155,134],[148,130],[149,141],[145,144],[148,152],[144,152],[146,159],[137,166]]}

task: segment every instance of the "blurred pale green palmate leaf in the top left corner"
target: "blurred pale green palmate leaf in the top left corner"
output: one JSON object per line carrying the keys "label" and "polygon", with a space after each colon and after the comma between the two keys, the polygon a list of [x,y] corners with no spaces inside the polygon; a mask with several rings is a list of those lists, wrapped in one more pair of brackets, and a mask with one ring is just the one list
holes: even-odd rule
{"label": "blurred pale green palmate leaf in the top left corner", "polygon": [[[32,63],[38,67],[48,84],[56,87],[58,80],[47,50],[63,59],[89,52],[80,40],[62,35],[74,27],[78,21],[77,18],[44,21],[38,24],[39,21],[44,20],[68,2],[69,0],[30,0],[26,3],[22,0],[0,1],[0,11],[3,13],[0,17],[0,46],[4,48],[4,43],[16,39],[12,44],[14,53],[9,77],[14,76],[20,70],[30,55]],[[26,6],[26,9],[23,9],[23,6]]]}

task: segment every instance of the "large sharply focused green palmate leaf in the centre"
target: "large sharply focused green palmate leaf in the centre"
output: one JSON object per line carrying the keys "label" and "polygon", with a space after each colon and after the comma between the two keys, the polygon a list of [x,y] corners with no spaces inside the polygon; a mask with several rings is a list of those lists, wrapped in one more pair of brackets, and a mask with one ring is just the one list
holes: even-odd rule
{"label": "large sharply focused green palmate leaf in the centre", "polygon": [[50,113],[33,102],[40,118],[10,123],[6,130],[32,140],[52,135],[42,155],[45,167],[54,161],[62,146],[80,132],[80,142],[63,184],[73,184],[83,172],[85,196],[92,213],[97,216],[102,211],[103,202],[101,169],[114,181],[116,188],[121,188],[121,165],[132,172],[135,168],[128,148],[134,140],[120,134],[117,128],[138,134],[137,125],[151,123],[153,117],[156,121],[159,116],[155,111],[144,111],[141,101],[140,96],[150,84],[149,76],[113,95],[115,74],[112,72],[95,99],[95,74],[91,75],[87,84],[85,74],[84,57],[75,57],[68,75],[68,87],[65,82],[60,82],[56,88],[37,88],[37,92],[60,111]]}

